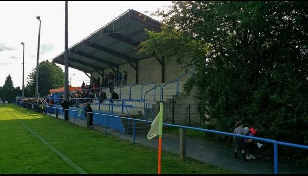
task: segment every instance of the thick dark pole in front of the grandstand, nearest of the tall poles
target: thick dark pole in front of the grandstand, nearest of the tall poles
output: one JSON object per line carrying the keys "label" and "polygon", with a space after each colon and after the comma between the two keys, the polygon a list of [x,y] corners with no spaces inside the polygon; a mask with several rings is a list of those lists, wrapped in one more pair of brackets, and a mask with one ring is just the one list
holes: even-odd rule
{"label": "thick dark pole in front of the grandstand, nearest of the tall poles", "polygon": [[65,1],[65,29],[64,29],[64,99],[68,102],[68,17],[67,1]]}

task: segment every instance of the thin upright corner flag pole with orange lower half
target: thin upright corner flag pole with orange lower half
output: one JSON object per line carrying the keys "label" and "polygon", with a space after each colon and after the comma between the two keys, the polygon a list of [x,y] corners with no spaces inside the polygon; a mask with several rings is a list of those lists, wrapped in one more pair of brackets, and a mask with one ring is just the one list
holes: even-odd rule
{"label": "thin upright corner flag pole with orange lower half", "polygon": [[157,161],[157,174],[161,174],[161,156],[162,156],[162,136],[163,136],[163,112],[164,104],[160,103],[159,111],[159,125],[158,125],[158,161]]}

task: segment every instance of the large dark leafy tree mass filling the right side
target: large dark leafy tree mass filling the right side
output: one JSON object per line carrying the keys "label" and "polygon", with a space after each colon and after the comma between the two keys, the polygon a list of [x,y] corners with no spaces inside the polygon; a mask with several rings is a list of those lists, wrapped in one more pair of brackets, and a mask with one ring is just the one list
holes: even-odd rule
{"label": "large dark leafy tree mass filling the right side", "polygon": [[308,144],[308,2],[176,1],[156,15],[166,26],[147,31],[140,52],[196,65],[186,88],[197,86],[206,127],[233,131],[241,119],[260,137]]}

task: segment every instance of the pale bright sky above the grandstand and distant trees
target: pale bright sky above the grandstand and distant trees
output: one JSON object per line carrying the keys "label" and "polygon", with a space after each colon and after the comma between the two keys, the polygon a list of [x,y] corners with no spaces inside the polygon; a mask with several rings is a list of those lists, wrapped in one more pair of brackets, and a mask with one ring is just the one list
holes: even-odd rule
{"label": "pale bright sky above the grandstand and distant trees", "polygon": [[[68,1],[68,47],[103,27],[128,9],[151,16],[158,8],[167,9],[171,1]],[[23,45],[25,43],[24,81],[36,67],[38,26],[41,17],[40,57],[45,61],[64,51],[64,1],[0,1],[0,86],[10,74],[14,87],[22,87]],[[56,64],[64,71],[64,66]],[[73,75],[75,74],[75,75]],[[72,86],[89,78],[69,68]]]}

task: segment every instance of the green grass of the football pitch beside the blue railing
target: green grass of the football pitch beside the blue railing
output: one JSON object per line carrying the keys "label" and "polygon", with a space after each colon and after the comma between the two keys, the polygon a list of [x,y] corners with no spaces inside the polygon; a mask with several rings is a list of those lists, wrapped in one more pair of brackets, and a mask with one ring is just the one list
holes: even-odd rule
{"label": "green grass of the football pitch beside the blue railing", "polygon": [[[0,174],[79,173],[15,117],[87,173],[157,173],[157,149],[8,104],[0,107]],[[191,159],[181,160],[176,154],[162,152],[162,173],[236,172]]]}

